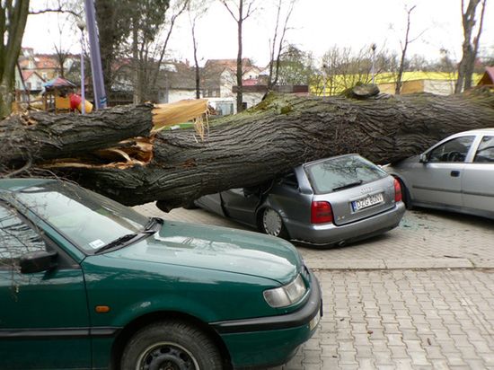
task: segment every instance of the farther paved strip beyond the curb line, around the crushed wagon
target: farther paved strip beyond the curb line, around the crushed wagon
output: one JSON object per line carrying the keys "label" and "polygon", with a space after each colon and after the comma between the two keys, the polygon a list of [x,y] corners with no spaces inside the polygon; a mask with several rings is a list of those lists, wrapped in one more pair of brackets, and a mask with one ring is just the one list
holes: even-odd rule
{"label": "farther paved strip beyond the curb line, around the crushed wagon", "polygon": [[[166,214],[152,203],[136,208],[148,216],[251,230],[203,209]],[[298,249],[313,269],[494,268],[494,221],[414,210],[407,211],[399,227],[373,239],[342,248]]]}

